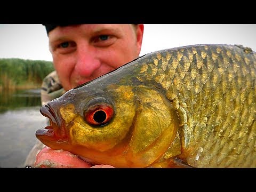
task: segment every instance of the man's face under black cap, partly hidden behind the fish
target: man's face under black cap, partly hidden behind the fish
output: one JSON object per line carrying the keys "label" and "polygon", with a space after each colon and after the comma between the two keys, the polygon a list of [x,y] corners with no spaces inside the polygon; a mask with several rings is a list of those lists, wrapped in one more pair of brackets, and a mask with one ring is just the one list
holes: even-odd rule
{"label": "man's face under black cap, partly hidden behind the fish", "polygon": [[57,27],[49,48],[63,88],[68,91],[139,56],[143,25],[85,24]]}

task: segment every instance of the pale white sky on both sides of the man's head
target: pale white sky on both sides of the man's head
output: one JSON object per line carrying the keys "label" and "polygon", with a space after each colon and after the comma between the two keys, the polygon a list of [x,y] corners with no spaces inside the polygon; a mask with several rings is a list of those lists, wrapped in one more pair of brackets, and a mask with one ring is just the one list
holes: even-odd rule
{"label": "pale white sky on both sides of the man's head", "polygon": [[[0,58],[52,61],[41,24],[0,24]],[[256,24],[145,24],[140,55],[194,44],[242,44],[256,51]]]}

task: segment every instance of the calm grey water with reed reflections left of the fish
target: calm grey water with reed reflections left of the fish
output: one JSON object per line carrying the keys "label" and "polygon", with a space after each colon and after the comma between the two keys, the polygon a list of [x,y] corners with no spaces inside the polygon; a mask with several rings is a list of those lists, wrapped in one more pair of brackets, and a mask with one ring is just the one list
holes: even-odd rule
{"label": "calm grey water with reed reflections left of the fish", "polygon": [[40,90],[0,93],[0,167],[23,167],[36,130],[47,125],[40,108]]}

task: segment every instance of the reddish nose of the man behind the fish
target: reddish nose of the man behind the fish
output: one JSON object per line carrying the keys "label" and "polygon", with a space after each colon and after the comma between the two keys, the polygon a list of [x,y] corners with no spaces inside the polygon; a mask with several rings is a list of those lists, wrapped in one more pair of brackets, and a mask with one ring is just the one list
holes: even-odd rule
{"label": "reddish nose of the man behind the fish", "polygon": [[93,71],[100,68],[100,61],[97,54],[89,48],[77,50],[77,60],[75,70],[84,77],[90,77]]}

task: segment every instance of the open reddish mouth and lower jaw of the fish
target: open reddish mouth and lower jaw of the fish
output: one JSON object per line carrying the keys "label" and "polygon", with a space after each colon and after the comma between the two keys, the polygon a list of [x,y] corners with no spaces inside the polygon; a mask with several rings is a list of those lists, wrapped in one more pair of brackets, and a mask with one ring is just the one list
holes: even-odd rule
{"label": "open reddish mouth and lower jaw of the fish", "polygon": [[[50,125],[44,128],[38,129],[36,131],[37,139],[43,142],[44,145],[49,146],[53,149],[60,149],[63,146],[70,145],[67,134],[65,133],[65,130],[61,126],[62,125],[61,120],[58,118],[55,118],[58,116],[55,115],[54,110],[52,110],[52,108],[49,105],[45,105],[41,107],[40,112],[43,116],[49,118]],[[58,145],[56,145],[56,143],[58,143]],[[58,148],[56,148],[55,146],[58,146]]]}

